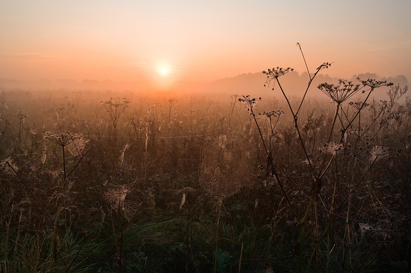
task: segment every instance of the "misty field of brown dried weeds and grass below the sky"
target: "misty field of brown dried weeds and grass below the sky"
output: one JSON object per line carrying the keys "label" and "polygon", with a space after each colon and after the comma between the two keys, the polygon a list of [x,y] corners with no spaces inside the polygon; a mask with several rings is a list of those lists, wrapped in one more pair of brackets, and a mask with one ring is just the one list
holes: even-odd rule
{"label": "misty field of brown dried weeds and grass below the sky", "polygon": [[0,272],[411,270],[407,88],[290,98],[287,72],[261,98],[3,87]]}

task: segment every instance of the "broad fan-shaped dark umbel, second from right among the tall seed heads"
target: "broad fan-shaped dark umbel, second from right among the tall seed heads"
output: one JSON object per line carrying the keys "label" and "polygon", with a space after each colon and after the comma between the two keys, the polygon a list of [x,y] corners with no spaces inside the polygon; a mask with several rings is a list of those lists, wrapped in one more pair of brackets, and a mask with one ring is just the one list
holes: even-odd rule
{"label": "broad fan-shaped dark umbel, second from right among the tall seed heads", "polygon": [[321,90],[325,95],[327,95],[334,102],[341,104],[348,100],[360,89],[360,85],[353,85],[351,82],[339,80],[338,85],[322,83],[317,88]]}

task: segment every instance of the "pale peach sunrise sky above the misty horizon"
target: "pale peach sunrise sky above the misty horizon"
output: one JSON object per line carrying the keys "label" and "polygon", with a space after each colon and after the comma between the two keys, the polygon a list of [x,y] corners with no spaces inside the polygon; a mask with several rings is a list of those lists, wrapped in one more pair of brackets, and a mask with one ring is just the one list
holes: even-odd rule
{"label": "pale peach sunrise sky above the misty horizon", "polygon": [[[411,79],[411,1],[0,0],[0,78],[214,81],[272,67]],[[167,72],[162,73],[161,69]]]}

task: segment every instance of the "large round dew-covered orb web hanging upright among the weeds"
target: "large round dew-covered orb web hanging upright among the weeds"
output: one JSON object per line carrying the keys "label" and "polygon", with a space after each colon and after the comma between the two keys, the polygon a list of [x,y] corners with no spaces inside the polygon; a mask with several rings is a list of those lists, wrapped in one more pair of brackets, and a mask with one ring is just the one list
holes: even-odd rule
{"label": "large round dew-covered orb web hanging upright among the weeds", "polygon": [[201,187],[219,200],[234,195],[249,181],[256,156],[249,134],[229,132],[218,136],[201,148]]}

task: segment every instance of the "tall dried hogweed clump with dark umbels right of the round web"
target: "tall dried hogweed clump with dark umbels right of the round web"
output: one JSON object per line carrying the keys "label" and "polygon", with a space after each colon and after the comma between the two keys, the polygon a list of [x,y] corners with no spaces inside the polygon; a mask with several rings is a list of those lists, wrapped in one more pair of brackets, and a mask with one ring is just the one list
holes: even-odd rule
{"label": "tall dried hogweed clump with dark umbels right of the round web", "polygon": [[[311,270],[311,266],[313,264],[316,266],[316,270],[320,270],[319,268],[317,268],[317,266],[319,266],[318,259],[320,259],[317,249],[320,247],[320,242],[322,242],[325,236],[327,237],[327,257],[325,263],[326,266],[324,269],[326,269],[326,271],[329,270],[330,261],[332,258],[330,255],[332,251],[331,239],[333,236],[331,232],[333,226],[337,226],[336,224],[334,224],[336,216],[345,219],[344,239],[342,239],[345,246],[339,246],[339,251],[341,251],[342,249],[342,253],[339,252],[339,254],[342,254],[343,257],[341,261],[342,266],[349,266],[351,270],[361,271],[365,268],[367,263],[369,264],[369,261],[367,260],[369,259],[369,254],[365,258],[363,258],[362,263],[356,261],[356,249],[354,248],[356,242],[353,241],[355,232],[353,219],[355,219],[355,217],[352,214],[353,202],[355,198],[354,194],[360,193],[359,189],[356,188],[362,185],[362,181],[367,177],[371,167],[375,165],[377,159],[380,157],[383,158],[386,154],[387,150],[379,148],[379,146],[377,145],[372,149],[368,149],[367,147],[370,142],[376,140],[376,137],[380,132],[382,126],[384,126],[384,124],[386,124],[390,117],[393,115],[393,111],[390,107],[386,105],[380,106],[380,110],[374,115],[373,118],[371,118],[370,121],[368,121],[369,125],[367,126],[367,128],[361,132],[361,130],[363,129],[361,127],[360,120],[361,112],[364,112],[368,109],[367,107],[369,104],[367,103],[367,100],[370,98],[373,90],[383,86],[392,86],[392,83],[387,83],[386,81],[377,81],[373,79],[358,79],[360,82],[359,84],[353,84],[352,82],[345,80],[340,80],[337,85],[322,83],[317,88],[319,88],[326,96],[328,96],[332,100],[335,105],[335,114],[334,118],[332,119],[332,123],[330,124],[330,126],[327,126],[329,132],[327,134],[327,137],[325,138],[325,143],[323,144],[323,147],[319,149],[318,152],[316,152],[314,150],[314,147],[316,146],[315,141],[312,141],[310,143],[309,138],[306,137],[304,139],[302,133],[305,132],[305,134],[307,135],[309,130],[313,130],[313,135],[315,136],[315,134],[323,126],[322,123],[324,122],[324,117],[320,117],[318,120],[314,120],[311,113],[311,115],[308,115],[306,123],[302,125],[301,120],[303,119],[299,114],[305,101],[307,92],[311,86],[311,83],[313,82],[313,79],[322,69],[328,68],[330,65],[331,63],[328,62],[323,63],[322,65],[317,67],[316,72],[313,75],[309,74],[310,79],[307,84],[307,88],[301,102],[299,103],[299,105],[297,105],[296,108],[291,105],[287,93],[283,89],[281,81],[279,80],[280,77],[285,76],[289,72],[293,71],[293,69],[290,67],[285,69],[276,67],[268,69],[267,71],[263,71],[263,73],[267,75],[265,86],[273,84],[272,90],[274,90],[275,85],[277,85],[287,102],[289,111],[294,121],[294,132],[297,135],[299,145],[305,157],[304,160],[301,159],[300,161],[307,162],[310,170],[303,176],[304,178],[311,178],[311,187],[309,192],[306,192],[307,196],[309,197],[309,202],[308,204],[306,203],[307,205],[302,211],[301,209],[297,210],[297,208],[295,207],[295,202],[293,202],[292,199],[288,197],[288,193],[286,192],[284,186],[285,184],[287,184],[287,176],[282,174],[282,170],[276,169],[275,157],[273,156],[274,153],[273,151],[271,151],[271,139],[269,139],[270,144],[267,145],[267,140],[264,138],[263,132],[260,129],[260,125],[258,124],[258,120],[255,118],[255,111],[253,107],[257,101],[261,100],[261,98],[253,99],[249,96],[242,96],[242,98],[239,99],[244,103],[250,115],[254,117],[258,134],[260,135],[261,142],[263,143],[265,152],[267,154],[266,165],[261,166],[260,168],[266,172],[267,177],[273,176],[275,178],[284,194],[285,199],[287,200],[287,204],[290,207],[292,214],[295,217],[295,228],[298,230],[298,272],[303,271],[303,258],[304,253],[307,253],[307,251],[311,251],[311,255],[307,256],[307,262],[305,263],[307,272]],[[343,105],[345,105],[349,99],[351,99],[360,91],[363,94],[366,94],[365,99],[362,102],[348,103],[348,106],[351,106],[351,112],[344,110]],[[398,101],[396,94],[403,95],[403,93],[405,92],[401,93],[395,92],[395,90],[391,91],[391,97],[395,98],[391,99],[391,101]],[[375,110],[375,104],[373,110]],[[272,124],[271,113],[274,112],[263,113],[263,115],[266,115],[270,119],[270,124]],[[353,125],[356,121],[359,122],[358,129],[353,131]],[[338,132],[336,132],[335,130],[336,127],[339,128]],[[372,132],[370,131],[371,127],[374,128]],[[272,126],[271,128],[272,135],[274,129]],[[354,132],[354,138],[350,137],[351,132]],[[369,164],[366,163],[367,160],[359,160],[362,157],[366,157],[367,153],[371,155],[371,163]],[[379,154],[378,156],[373,155],[377,153]],[[322,157],[322,159],[317,160],[320,157]],[[339,159],[337,157],[339,157]],[[334,161],[334,168],[330,168],[332,166],[332,161]],[[333,169],[334,173],[332,172]],[[362,172],[363,175],[359,176],[358,172]],[[329,192],[331,194],[331,199],[329,200],[329,198],[327,198],[327,200],[325,201],[323,199],[323,193],[326,192]],[[361,208],[358,207],[355,207],[355,209],[356,211],[361,210]],[[320,213],[320,211],[327,213]],[[309,221],[309,219],[311,220]],[[305,231],[308,228],[308,222],[310,222],[310,225],[314,225],[313,229],[316,230],[316,232],[306,235]],[[320,230],[321,232],[319,232]],[[312,237],[314,237],[314,244],[310,245],[307,242],[309,242],[308,240]],[[375,249],[377,249],[376,252],[378,253],[379,250],[377,246]]]}

